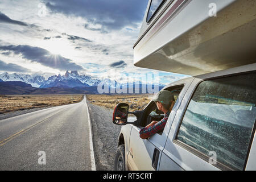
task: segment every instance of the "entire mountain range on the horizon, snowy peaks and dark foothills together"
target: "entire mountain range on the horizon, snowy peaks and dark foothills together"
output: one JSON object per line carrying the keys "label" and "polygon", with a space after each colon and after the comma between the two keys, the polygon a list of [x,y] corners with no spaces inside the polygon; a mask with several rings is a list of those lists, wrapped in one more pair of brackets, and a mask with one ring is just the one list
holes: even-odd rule
{"label": "entire mountain range on the horizon, snowy peaks and dark foothills together", "polygon": [[[24,84],[22,84],[24,83]],[[142,82],[132,82],[121,84],[115,80],[105,78],[100,80],[88,75],[79,75],[77,71],[67,71],[65,75],[53,75],[47,80],[44,76],[24,75],[18,73],[9,74],[7,72],[0,74],[0,94],[77,94],[77,93],[98,93],[98,86],[108,86],[111,89],[129,88],[129,85],[139,87],[139,93],[142,93],[142,87],[146,88],[147,84]],[[159,90],[165,85],[158,85]],[[148,92],[148,90],[147,90]],[[135,90],[134,90],[135,93]]]}

